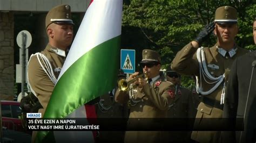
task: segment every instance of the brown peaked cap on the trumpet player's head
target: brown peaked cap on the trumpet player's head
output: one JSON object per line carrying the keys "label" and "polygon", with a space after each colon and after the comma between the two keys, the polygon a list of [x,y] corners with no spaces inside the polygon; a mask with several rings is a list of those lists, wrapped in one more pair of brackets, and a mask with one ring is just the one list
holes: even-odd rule
{"label": "brown peaked cap on the trumpet player's head", "polygon": [[142,51],[142,61],[140,63],[158,62],[160,63],[160,56],[156,51],[151,49],[144,49]]}

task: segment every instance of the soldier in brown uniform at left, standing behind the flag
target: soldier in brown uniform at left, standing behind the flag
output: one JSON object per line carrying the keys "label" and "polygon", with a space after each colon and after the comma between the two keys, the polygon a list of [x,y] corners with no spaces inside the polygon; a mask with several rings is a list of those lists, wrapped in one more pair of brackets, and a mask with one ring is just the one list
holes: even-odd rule
{"label": "soldier in brown uniform at left, standing behind the flag", "polygon": [[[58,5],[52,8],[45,18],[45,29],[49,43],[41,53],[31,55],[28,63],[28,82],[32,93],[38,98],[44,111],[50,100],[58,75],[62,69],[65,50],[73,39],[73,21],[69,5]],[[32,133],[32,142],[36,132]]]}

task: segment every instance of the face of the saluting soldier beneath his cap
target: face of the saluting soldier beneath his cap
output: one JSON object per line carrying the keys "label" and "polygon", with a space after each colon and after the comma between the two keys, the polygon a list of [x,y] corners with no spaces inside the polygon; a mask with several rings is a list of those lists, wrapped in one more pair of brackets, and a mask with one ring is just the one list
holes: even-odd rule
{"label": "face of the saluting soldier beneath his cap", "polygon": [[223,44],[234,42],[238,33],[237,24],[216,24],[214,34],[218,36],[218,41]]}

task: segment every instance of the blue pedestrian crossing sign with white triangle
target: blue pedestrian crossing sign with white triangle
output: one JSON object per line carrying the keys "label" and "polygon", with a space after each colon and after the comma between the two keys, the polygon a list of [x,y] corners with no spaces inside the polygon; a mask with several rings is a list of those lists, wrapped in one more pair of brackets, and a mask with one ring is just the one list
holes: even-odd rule
{"label": "blue pedestrian crossing sign with white triangle", "polygon": [[135,50],[121,49],[120,63],[125,74],[133,74],[135,72]]}

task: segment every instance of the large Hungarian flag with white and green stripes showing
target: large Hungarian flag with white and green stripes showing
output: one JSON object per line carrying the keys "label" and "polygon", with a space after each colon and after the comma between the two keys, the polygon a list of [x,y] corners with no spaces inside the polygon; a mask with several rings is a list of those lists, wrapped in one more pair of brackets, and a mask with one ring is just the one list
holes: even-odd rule
{"label": "large Hungarian flag with white and green stripes showing", "polygon": [[[84,104],[112,90],[116,85],[122,5],[123,0],[91,1],[60,72],[44,118],[86,119],[88,115]],[[36,142],[53,136],[56,142],[93,141],[91,131],[66,132],[40,131]]]}

